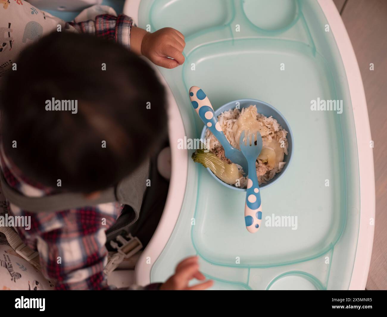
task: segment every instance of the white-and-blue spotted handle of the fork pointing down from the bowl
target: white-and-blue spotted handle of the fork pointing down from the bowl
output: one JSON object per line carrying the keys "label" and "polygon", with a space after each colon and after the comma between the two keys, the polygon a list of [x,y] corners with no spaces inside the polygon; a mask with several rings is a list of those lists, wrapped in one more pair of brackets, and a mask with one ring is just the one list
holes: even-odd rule
{"label": "white-and-blue spotted handle of the fork pointing down from the bowl", "polygon": [[259,230],[262,222],[261,194],[257,173],[255,172],[255,160],[248,160],[249,173],[247,178],[246,201],[245,201],[245,224],[250,233]]}

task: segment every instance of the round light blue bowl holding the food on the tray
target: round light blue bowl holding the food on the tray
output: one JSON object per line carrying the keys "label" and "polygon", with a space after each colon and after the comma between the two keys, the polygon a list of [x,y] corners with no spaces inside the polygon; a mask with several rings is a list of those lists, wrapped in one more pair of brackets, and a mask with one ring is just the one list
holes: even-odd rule
{"label": "round light blue bowl holding the food on the tray", "polygon": [[[230,110],[230,109],[234,109],[236,107],[237,103],[240,103],[240,110],[242,108],[248,108],[250,105],[256,105],[258,113],[262,113],[262,115],[264,115],[266,117],[272,116],[274,119],[276,119],[278,121],[278,123],[281,125],[281,127],[283,127],[283,129],[288,131],[288,134],[286,135],[286,138],[288,139],[288,144],[289,144],[289,148],[288,148],[288,153],[289,154],[288,155],[285,154],[285,156],[284,156],[284,162],[286,162],[286,164],[285,164],[284,168],[282,169],[282,171],[280,173],[277,173],[274,176],[274,178],[269,180],[269,182],[259,186],[259,189],[262,190],[262,189],[264,189],[266,187],[269,187],[270,185],[274,184],[275,182],[277,182],[284,175],[284,173],[288,170],[290,162],[291,162],[291,159],[293,158],[293,150],[294,150],[294,148],[293,148],[293,133],[291,132],[291,129],[290,129],[288,121],[286,121],[286,119],[281,114],[281,112],[279,112],[276,108],[274,108],[273,106],[269,105],[268,103],[265,103],[263,101],[256,100],[256,99],[238,99],[238,100],[235,100],[235,101],[230,101],[229,103],[226,103],[225,105],[217,108],[215,110],[215,115],[219,116],[224,111],[227,111],[227,110]],[[202,134],[200,135],[200,139],[204,139],[205,138],[205,131],[206,130],[207,130],[207,127],[204,126],[203,130],[202,130]],[[226,187],[231,188],[233,190],[239,190],[241,192],[245,192],[246,191],[246,188],[238,188],[238,187],[235,187],[235,186],[231,186],[231,185],[229,185],[227,183],[224,183],[222,180],[217,178],[215,176],[215,174],[212,173],[212,171],[209,168],[207,168],[207,171],[212,175],[212,177],[214,177],[223,186],[226,186]]]}

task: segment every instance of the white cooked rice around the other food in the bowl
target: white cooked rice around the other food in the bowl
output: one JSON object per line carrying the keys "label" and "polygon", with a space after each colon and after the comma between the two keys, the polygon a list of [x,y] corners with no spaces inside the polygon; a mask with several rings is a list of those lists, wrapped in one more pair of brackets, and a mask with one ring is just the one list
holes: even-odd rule
{"label": "white cooked rice around the other food in the bowl", "polygon": [[[267,132],[264,132],[261,134],[262,136],[262,142],[265,145],[265,142],[271,142],[272,139],[277,140],[278,142],[284,141],[285,142],[285,147],[284,147],[284,153],[287,155],[288,154],[288,139],[286,138],[286,134],[288,132],[279,125],[276,119],[272,117],[265,117],[264,115],[258,113],[256,105],[253,106],[255,112],[257,113],[257,120],[258,122],[261,123],[262,126],[267,127],[268,130]],[[253,111],[254,111],[253,110]],[[242,111],[239,109],[230,109],[228,111],[222,112],[218,116],[218,121],[220,126],[222,127],[223,133],[226,136],[226,139],[230,142],[231,146],[235,147],[236,149],[240,149],[239,144],[236,143],[235,141],[235,135],[233,132],[233,126],[236,120],[239,118],[240,115],[242,115],[245,112],[245,108],[242,108]],[[223,146],[219,143],[219,141],[216,139],[216,137],[212,134],[212,132],[207,129],[205,133],[206,139],[209,139],[209,147],[212,153],[219,153],[219,151],[224,151]],[[219,154],[220,157],[220,154]],[[277,173],[282,171],[284,165],[286,162],[280,162],[278,164],[278,168],[273,168],[271,170],[268,170],[266,167],[267,172],[265,172],[263,175],[262,173],[265,171],[263,169],[266,164],[261,160],[257,159],[255,166],[257,168],[257,177],[258,177],[258,182],[259,185],[267,183],[269,180],[271,180]],[[238,165],[238,168],[240,169],[242,175],[245,175],[243,173],[243,170],[240,165]],[[247,186],[247,178],[242,176],[240,179],[240,187],[241,188],[246,188]]]}

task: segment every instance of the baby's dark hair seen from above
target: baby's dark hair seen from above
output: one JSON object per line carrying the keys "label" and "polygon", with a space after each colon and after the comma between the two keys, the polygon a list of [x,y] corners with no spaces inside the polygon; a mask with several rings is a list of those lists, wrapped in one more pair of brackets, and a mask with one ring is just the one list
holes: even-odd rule
{"label": "baby's dark hair seen from above", "polygon": [[[56,187],[60,179],[59,189],[84,193],[107,188],[166,133],[163,85],[113,41],[54,32],[22,51],[16,67],[0,89],[2,143],[35,182]],[[47,111],[52,98],[77,100],[77,113]]]}

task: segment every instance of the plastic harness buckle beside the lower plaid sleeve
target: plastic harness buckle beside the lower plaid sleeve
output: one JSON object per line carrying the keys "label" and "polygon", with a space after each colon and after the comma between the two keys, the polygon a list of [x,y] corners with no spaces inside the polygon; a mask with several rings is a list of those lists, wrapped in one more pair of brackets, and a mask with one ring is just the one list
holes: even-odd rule
{"label": "plastic harness buckle beside the lower plaid sleeve", "polygon": [[113,240],[110,241],[110,245],[117,249],[117,253],[113,254],[108,264],[106,264],[103,270],[106,275],[113,272],[124,259],[130,258],[142,249],[142,243],[139,238],[136,236],[133,237],[130,233],[126,236],[126,238],[129,238],[129,240],[126,240],[121,235],[116,236],[115,239],[122,244],[120,247],[117,242]]}

